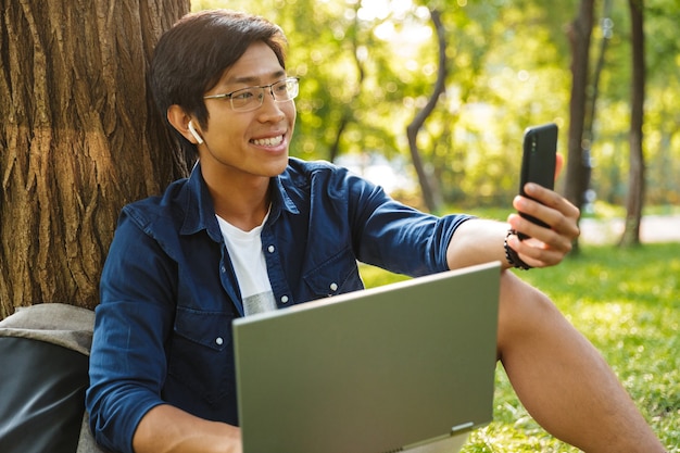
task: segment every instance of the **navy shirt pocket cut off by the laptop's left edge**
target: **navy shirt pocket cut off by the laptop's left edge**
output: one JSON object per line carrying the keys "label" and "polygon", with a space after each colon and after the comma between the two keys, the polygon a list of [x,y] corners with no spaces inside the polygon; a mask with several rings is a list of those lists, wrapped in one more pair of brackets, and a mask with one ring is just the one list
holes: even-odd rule
{"label": "navy shirt pocket cut off by the laptop's left edge", "polygon": [[235,389],[231,313],[178,306],[167,373],[210,404]]}

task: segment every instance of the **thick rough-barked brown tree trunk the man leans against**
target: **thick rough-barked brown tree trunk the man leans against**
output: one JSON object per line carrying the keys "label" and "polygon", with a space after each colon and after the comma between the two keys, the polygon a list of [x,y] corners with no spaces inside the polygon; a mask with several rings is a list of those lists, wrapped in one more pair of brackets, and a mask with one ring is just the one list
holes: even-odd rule
{"label": "thick rough-barked brown tree trunk the man leans against", "polygon": [[0,0],[0,318],[93,307],[121,207],[187,172],[148,98],[188,0]]}

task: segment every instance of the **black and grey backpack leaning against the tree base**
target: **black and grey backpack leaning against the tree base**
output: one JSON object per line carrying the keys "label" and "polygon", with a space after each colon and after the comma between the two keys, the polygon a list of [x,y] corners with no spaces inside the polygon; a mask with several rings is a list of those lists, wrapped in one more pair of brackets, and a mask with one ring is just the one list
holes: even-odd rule
{"label": "black and grey backpack leaning against the tree base", "polygon": [[0,452],[99,451],[81,429],[93,324],[93,312],[65,304],[18,309],[0,322]]}

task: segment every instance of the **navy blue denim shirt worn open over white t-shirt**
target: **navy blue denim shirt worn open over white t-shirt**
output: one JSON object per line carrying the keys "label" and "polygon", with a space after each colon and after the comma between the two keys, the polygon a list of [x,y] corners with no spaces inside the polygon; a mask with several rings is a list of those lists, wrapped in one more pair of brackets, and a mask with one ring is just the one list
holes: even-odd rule
{"label": "navy blue denim shirt worn open over white t-shirt", "polygon": [[[420,213],[343,168],[293,158],[270,191],[262,247],[278,307],[362,289],[357,260],[445,270],[469,218]],[[141,417],[165,402],[238,425],[231,320],[243,309],[200,164],[123,209],[100,289],[86,403],[101,444],[131,452]]]}

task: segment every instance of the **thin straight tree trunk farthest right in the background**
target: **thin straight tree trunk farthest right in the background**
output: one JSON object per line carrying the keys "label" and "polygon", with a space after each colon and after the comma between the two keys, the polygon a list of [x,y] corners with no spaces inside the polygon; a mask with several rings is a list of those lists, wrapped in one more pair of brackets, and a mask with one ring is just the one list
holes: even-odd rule
{"label": "thin straight tree trunk farthest right in the background", "polygon": [[643,0],[629,0],[632,47],[632,91],[630,102],[630,169],[628,175],[628,201],[626,203],[626,229],[620,246],[640,244],[640,224],[644,201],[644,153],[642,150],[642,124],[644,121],[644,27]]}

